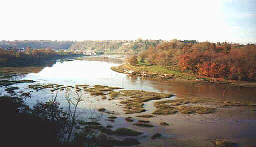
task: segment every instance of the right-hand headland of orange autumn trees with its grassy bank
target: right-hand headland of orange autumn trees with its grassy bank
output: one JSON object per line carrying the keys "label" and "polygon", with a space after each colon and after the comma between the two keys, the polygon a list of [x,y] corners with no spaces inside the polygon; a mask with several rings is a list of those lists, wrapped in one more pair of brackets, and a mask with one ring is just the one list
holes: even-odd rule
{"label": "right-hand headland of orange autumn trees with its grassy bank", "polygon": [[111,69],[142,77],[186,79],[255,86],[256,45],[184,43],[170,40],[149,46],[126,63]]}

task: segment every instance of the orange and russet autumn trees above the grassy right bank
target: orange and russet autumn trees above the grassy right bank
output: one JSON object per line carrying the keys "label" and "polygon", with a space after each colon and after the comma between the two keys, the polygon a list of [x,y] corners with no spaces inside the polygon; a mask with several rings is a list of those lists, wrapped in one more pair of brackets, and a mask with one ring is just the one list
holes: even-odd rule
{"label": "orange and russet autumn trees above the grassy right bank", "polygon": [[[210,42],[184,43],[179,40],[149,46],[137,56],[138,63],[166,67],[168,70],[188,72],[228,80],[256,81],[256,46],[232,46]],[[130,58],[130,64],[136,62]]]}

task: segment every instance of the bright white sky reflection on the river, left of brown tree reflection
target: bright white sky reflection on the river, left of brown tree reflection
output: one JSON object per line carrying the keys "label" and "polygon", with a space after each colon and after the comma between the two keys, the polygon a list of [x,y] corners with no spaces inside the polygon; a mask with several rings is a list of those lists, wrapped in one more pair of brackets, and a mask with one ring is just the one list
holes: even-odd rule
{"label": "bright white sky reflection on the river, left of brown tree reflection", "polygon": [[153,88],[147,80],[140,80],[134,75],[125,75],[110,69],[119,64],[102,61],[67,61],[57,62],[52,67],[45,67],[39,73],[31,73],[23,79],[32,79],[53,84],[100,84],[116,86],[125,89],[139,89],[147,91],[159,90]]}

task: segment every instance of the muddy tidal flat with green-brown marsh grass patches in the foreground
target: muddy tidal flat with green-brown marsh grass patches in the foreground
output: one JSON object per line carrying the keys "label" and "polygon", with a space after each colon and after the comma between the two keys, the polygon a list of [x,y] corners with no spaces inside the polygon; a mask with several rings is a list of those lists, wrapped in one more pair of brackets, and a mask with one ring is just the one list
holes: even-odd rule
{"label": "muddy tidal flat with green-brown marsh grass patches in the foreground", "polygon": [[[199,97],[177,98],[171,94],[125,90],[102,85],[69,86],[33,83],[29,87],[34,90],[60,90],[59,93],[61,89],[66,88],[70,91],[89,94],[91,109],[106,114],[100,120],[102,126],[113,126],[111,130],[129,128],[143,133],[133,137],[141,143],[136,147],[215,147],[211,143],[213,139],[230,140],[237,143],[238,147],[256,145],[254,138],[256,136],[256,104],[248,101],[224,101]],[[56,90],[56,88],[59,89]],[[81,105],[88,108],[87,103],[84,101]],[[127,104],[132,105],[127,106]],[[200,109],[184,111],[183,106],[212,108],[214,111],[203,112]],[[134,107],[138,109],[133,110]],[[157,108],[179,110],[171,114],[153,114]],[[127,109],[132,111],[127,113]],[[144,111],[141,111],[142,109]],[[153,117],[140,117],[146,115]],[[128,117],[132,122],[126,120]],[[160,125],[163,122],[167,125]],[[134,124],[147,124],[153,127]],[[152,140],[151,137],[155,133],[160,133],[162,137]],[[119,140],[124,139],[124,137],[114,137]]]}

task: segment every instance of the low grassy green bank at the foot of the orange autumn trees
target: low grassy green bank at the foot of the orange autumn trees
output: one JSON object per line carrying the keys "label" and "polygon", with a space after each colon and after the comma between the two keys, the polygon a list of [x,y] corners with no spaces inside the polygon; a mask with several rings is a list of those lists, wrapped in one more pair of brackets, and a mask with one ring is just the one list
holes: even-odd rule
{"label": "low grassy green bank at the foot of the orange autumn trees", "polygon": [[[186,82],[200,82],[200,83],[212,83],[210,77],[200,76],[198,79],[198,75],[192,75],[189,73],[182,73],[178,71],[171,71],[164,67],[153,66],[153,65],[142,65],[142,66],[132,66],[128,63],[111,67],[111,70],[119,73],[130,74],[142,76],[144,73],[145,76],[143,78],[153,78],[153,79],[161,79],[161,80],[177,80],[177,81],[186,81]],[[160,77],[161,74],[164,74],[164,77]],[[228,83],[238,86],[246,86],[246,87],[256,87],[255,82],[246,82],[246,81],[237,81],[237,80],[225,80],[222,78],[215,78],[216,82],[214,83]]]}

